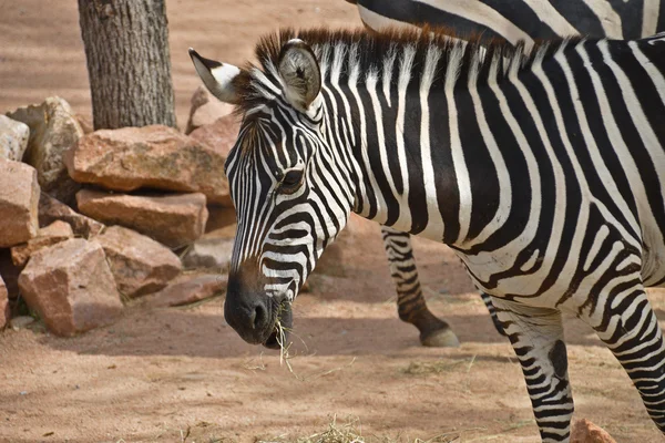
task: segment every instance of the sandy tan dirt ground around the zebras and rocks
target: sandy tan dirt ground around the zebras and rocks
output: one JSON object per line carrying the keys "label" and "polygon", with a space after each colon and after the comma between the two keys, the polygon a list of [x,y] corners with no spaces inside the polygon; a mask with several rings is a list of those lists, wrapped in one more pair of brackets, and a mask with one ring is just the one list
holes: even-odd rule
{"label": "sandy tan dirt ground around the zebras and rocks", "polygon": [[[186,48],[241,63],[277,25],[356,25],[342,0],[168,0],[181,125],[197,86]],[[0,112],[58,94],[90,114],[74,0],[0,0]],[[358,222],[345,277],[314,276],[295,307],[289,360],[244,343],[222,299],[178,309],[132,306],[73,339],[0,333],[1,442],[291,441],[336,418],[366,441],[535,442],[507,340],[446,247],[416,240],[431,309],[462,341],[424,349],[400,322],[378,227]],[[665,292],[651,292],[665,319]],[[577,418],[617,442],[657,442],[637,392],[581,322],[566,322]],[[457,440],[456,440],[457,439]]]}

